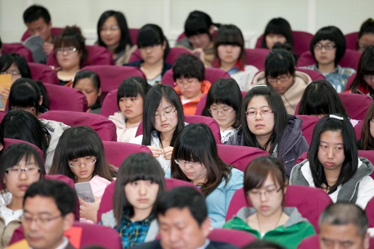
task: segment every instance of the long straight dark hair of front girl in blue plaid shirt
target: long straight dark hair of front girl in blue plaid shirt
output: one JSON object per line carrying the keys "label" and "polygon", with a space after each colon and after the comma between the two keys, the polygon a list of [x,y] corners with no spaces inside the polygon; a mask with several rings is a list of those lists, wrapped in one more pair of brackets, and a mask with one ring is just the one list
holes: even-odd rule
{"label": "long straight dark hair of front girl in blue plaid shirt", "polygon": [[156,202],[153,205],[151,214],[155,214],[160,194],[165,191],[164,172],[157,160],[148,153],[134,153],[128,156],[119,167],[116,184],[113,193],[113,213],[117,225],[121,224],[124,212],[128,216],[134,216],[134,207],[128,201],[125,194],[125,185],[138,180],[153,181],[159,185]]}

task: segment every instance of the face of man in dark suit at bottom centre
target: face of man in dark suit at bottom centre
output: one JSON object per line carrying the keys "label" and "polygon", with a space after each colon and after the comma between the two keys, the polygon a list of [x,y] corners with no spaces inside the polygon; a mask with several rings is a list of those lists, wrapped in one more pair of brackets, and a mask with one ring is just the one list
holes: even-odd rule
{"label": "face of man in dark suit at bottom centre", "polygon": [[209,235],[210,221],[206,218],[199,226],[187,207],[171,208],[158,215],[160,243],[163,249],[195,249],[204,245]]}

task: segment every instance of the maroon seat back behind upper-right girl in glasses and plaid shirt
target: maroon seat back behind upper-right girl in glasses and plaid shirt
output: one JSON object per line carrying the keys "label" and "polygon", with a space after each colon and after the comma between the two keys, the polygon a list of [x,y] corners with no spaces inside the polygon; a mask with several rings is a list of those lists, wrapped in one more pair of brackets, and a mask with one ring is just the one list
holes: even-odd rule
{"label": "maroon seat back behind upper-right girl in glasses and plaid shirt", "polygon": [[[346,49],[343,58],[339,61],[341,67],[350,67],[357,71],[358,61],[360,60],[361,53],[352,49]],[[300,55],[297,60],[296,67],[305,67],[315,64],[316,61],[313,59],[310,51],[304,52]]]}

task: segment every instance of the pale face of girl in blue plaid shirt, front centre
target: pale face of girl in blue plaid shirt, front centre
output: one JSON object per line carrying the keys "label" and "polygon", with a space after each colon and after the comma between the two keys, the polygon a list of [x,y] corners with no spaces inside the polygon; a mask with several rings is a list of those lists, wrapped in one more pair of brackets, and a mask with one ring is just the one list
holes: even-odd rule
{"label": "pale face of girl in blue plaid shirt, front centre", "polygon": [[159,192],[159,184],[150,180],[128,182],[125,195],[131,206],[136,210],[151,210]]}

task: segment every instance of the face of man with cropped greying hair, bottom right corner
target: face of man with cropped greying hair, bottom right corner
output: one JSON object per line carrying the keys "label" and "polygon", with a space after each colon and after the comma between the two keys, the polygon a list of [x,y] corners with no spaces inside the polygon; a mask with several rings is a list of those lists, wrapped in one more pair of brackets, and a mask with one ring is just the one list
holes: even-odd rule
{"label": "face of man with cropped greying hair, bottom right corner", "polygon": [[319,233],[321,249],[368,249],[369,239],[368,233],[362,239],[357,234],[357,226],[354,224],[330,225],[324,222]]}

